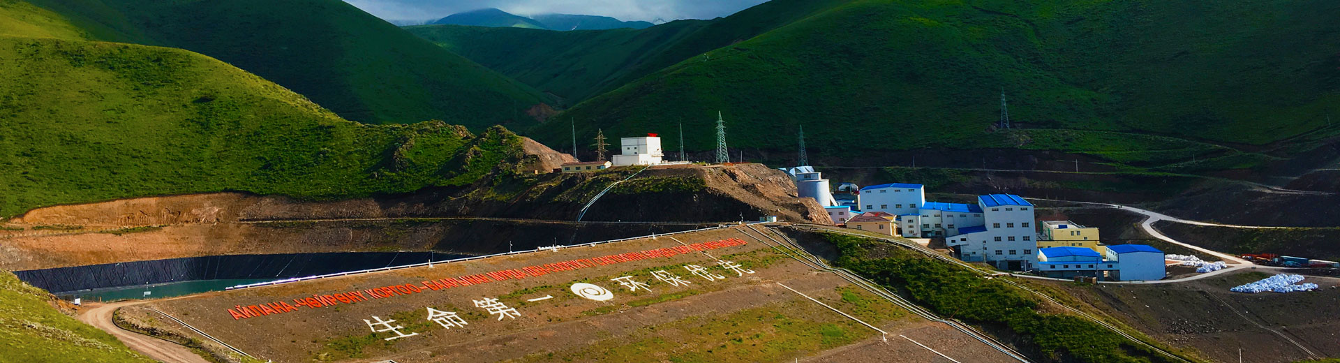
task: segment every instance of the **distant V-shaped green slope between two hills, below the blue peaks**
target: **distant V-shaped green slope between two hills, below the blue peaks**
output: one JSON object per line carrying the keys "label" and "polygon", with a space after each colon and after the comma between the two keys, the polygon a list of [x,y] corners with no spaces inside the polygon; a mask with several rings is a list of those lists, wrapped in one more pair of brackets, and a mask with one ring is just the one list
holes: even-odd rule
{"label": "distant V-shaped green slope between two hills, below the blue peaks", "polygon": [[678,20],[645,29],[559,32],[454,25],[406,29],[575,103],[838,3],[842,1],[773,0],[728,17]]}

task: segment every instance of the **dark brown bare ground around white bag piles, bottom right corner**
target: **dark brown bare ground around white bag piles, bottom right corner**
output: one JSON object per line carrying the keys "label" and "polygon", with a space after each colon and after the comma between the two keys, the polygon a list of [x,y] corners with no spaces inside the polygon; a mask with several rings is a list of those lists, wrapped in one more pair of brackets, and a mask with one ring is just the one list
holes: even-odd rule
{"label": "dark brown bare ground around white bag piles, bottom right corner", "polygon": [[1340,279],[1308,277],[1304,281],[1321,285],[1313,292],[1229,291],[1261,277],[1240,272],[1164,285],[1037,284],[1063,289],[1160,342],[1198,351],[1214,362],[1238,362],[1240,347],[1242,362],[1311,359],[1302,348],[1266,328],[1319,355],[1340,356],[1340,320],[1336,319],[1340,317]]}

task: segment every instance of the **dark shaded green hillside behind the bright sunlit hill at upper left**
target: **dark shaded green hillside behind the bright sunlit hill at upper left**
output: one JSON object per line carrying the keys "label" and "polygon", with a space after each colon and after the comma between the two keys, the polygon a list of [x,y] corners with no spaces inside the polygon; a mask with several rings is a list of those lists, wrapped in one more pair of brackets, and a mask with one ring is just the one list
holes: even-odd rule
{"label": "dark shaded green hillside behind the bright sunlit hill at upper left", "polygon": [[339,0],[34,0],[96,40],[185,48],[370,123],[536,123],[547,98]]}

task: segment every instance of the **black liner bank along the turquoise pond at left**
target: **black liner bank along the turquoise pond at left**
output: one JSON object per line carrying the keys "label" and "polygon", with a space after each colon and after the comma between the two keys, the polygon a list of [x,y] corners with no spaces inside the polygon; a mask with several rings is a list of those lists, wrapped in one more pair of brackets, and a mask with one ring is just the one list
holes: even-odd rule
{"label": "black liner bank along the turquoise pond at left", "polygon": [[230,255],[15,271],[52,293],[196,280],[291,279],[468,257],[430,252]]}

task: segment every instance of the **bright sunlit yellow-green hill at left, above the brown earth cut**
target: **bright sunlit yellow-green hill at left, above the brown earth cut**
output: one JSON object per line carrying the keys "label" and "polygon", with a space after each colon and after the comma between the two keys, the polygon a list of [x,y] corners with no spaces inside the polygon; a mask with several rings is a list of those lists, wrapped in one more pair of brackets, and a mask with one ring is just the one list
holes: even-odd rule
{"label": "bright sunlit yellow-green hill at left, above the brown earth cut", "polygon": [[190,51],[94,35],[0,1],[0,216],[243,190],[347,198],[462,186],[519,157],[501,127],[371,126]]}

